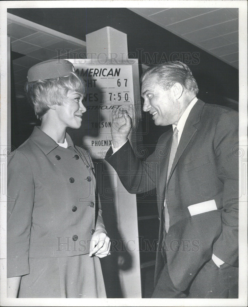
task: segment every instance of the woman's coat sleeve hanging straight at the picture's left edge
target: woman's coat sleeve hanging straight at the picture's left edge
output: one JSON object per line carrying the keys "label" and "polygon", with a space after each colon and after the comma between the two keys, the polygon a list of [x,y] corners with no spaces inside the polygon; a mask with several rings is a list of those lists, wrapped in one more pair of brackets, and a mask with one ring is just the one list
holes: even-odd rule
{"label": "woman's coat sleeve hanging straight at the picture's left edge", "polygon": [[34,202],[31,165],[12,153],[7,166],[7,277],[29,274],[29,241]]}

